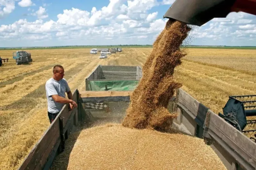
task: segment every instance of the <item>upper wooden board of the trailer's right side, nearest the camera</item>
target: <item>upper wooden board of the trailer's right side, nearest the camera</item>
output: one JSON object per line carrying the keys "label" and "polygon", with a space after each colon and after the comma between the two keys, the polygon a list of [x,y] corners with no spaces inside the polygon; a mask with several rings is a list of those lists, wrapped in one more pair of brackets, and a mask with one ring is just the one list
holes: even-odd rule
{"label": "upper wooden board of the trailer's right side, nearest the camera", "polygon": [[256,143],[216,114],[211,115],[210,129],[256,167]]}

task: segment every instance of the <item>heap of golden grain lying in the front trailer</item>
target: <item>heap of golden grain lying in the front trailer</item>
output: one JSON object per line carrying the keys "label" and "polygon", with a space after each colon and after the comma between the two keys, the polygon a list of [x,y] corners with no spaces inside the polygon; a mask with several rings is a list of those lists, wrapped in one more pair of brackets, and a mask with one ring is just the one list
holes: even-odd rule
{"label": "heap of golden grain lying in the front trailer", "polygon": [[203,139],[149,129],[106,124],[68,137],[53,162],[59,169],[186,169],[225,170]]}

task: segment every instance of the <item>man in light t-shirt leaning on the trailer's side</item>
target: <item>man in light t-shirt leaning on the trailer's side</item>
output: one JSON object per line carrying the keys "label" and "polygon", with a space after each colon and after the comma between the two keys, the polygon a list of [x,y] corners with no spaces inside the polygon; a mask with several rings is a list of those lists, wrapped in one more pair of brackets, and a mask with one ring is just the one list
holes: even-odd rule
{"label": "man in light t-shirt leaning on the trailer's side", "polygon": [[[68,86],[68,82],[63,77],[64,68],[61,65],[55,65],[53,67],[52,78],[47,80],[45,84],[50,123],[53,122],[66,103],[69,103],[71,109],[77,107],[76,102],[73,101],[73,96]],[[65,92],[68,94],[68,99],[65,98]]]}

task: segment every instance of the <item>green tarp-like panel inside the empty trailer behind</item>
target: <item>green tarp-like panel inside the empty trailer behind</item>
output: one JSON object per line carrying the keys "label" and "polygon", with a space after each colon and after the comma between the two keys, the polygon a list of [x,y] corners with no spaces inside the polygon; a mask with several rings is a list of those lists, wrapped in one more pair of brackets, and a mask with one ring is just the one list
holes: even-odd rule
{"label": "green tarp-like panel inside the empty trailer behind", "polygon": [[111,81],[93,81],[89,82],[89,91],[105,91],[107,85],[108,91],[133,91],[138,85],[138,80],[111,80]]}

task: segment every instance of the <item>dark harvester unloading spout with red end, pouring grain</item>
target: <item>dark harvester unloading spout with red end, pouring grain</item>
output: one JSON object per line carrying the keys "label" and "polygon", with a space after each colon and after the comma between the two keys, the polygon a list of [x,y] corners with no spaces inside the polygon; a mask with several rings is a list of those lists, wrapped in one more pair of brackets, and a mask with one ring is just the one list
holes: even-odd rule
{"label": "dark harvester unloading spout with red end, pouring grain", "polygon": [[230,12],[256,15],[256,0],[176,0],[164,18],[202,26],[213,18],[226,18]]}

